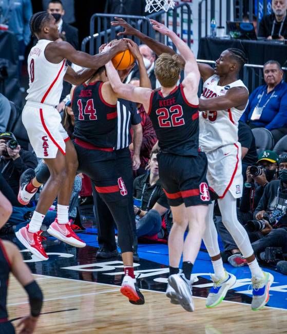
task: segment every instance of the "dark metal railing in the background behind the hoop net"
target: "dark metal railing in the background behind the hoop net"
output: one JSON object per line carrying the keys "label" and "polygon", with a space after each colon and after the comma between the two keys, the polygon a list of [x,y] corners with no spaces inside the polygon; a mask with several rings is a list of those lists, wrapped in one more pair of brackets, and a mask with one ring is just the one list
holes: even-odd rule
{"label": "dark metal railing in the background behind the hoop net", "polygon": [[[90,19],[90,36],[87,36],[83,39],[81,46],[82,51],[89,52],[90,54],[95,54],[98,52],[99,47],[103,43],[107,43],[108,41],[117,37],[117,33],[119,31],[122,31],[122,28],[113,27],[110,25],[110,22],[114,19],[114,16],[117,16],[117,14],[96,13],[92,15]],[[189,47],[191,45],[192,11],[188,4],[180,4],[174,9],[169,9],[167,12],[162,10],[147,16],[120,14],[118,16],[124,18],[128,24],[132,25],[134,28],[140,30],[142,33],[148,35],[149,37],[156,38],[162,43],[169,44],[170,41],[166,40],[166,36],[158,34],[155,32],[154,29],[152,29],[149,23],[149,19],[152,18],[156,19],[159,22],[165,22],[165,24],[167,24],[169,28],[172,28],[175,33],[179,34],[179,36],[186,41]],[[97,29],[95,29],[96,24]],[[140,43],[140,40],[138,38],[132,36],[132,39],[135,40],[136,43]],[[175,49],[174,46],[173,48]]]}

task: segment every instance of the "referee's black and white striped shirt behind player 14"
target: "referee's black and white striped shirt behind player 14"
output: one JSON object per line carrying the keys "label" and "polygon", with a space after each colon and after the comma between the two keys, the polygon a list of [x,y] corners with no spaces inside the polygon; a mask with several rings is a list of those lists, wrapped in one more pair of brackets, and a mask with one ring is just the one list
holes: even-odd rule
{"label": "referee's black and white striped shirt behind player 14", "polygon": [[131,143],[130,129],[132,125],[141,122],[135,102],[119,99],[117,103],[118,111],[118,138],[116,150],[125,149]]}

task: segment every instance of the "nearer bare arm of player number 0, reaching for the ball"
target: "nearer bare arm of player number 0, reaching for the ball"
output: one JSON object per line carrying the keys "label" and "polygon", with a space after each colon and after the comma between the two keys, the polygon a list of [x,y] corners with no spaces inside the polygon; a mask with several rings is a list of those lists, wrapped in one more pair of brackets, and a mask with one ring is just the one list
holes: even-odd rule
{"label": "nearer bare arm of player number 0, reaching for the ball", "polygon": [[126,41],[120,39],[114,41],[112,47],[105,52],[92,56],[88,53],[75,50],[66,41],[56,40],[47,46],[45,49],[45,56],[48,61],[54,62],[56,64],[59,63],[62,59],[66,58],[81,67],[98,70],[100,67],[105,66],[107,62],[117,53],[125,51],[126,49]]}

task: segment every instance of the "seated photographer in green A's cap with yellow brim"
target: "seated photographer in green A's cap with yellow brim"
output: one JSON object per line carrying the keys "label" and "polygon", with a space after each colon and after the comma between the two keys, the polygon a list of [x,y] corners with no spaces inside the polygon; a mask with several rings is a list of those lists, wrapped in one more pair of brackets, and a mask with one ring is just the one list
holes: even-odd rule
{"label": "seated photographer in green A's cap with yellow brim", "polygon": [[[243,186],[238,220],[242,225],[253,219],[254,211],[263,195],[265,186],[277,179],[279,157],[276,152],[263,151],[259,154],[257,165],[262,170],[261,175],[254,176],[250,172],[250,166],[246,171],[246,182]],[[216,223],[218,233],[224,246],[224,258],[233,266],[246,264],[231,234],[227,231],[221,221]]]}

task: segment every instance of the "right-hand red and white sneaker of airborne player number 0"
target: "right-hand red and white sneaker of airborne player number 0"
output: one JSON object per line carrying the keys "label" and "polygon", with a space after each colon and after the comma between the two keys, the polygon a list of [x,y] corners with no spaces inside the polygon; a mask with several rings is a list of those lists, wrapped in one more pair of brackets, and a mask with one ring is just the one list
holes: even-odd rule
{"label": "right-hand red and white sneaker of airborne player number 0", "polygon": [[56,218],[54,222],[50,225],[50,227],[47,229],[47,232],[55,237],[58,238],[69,245],[75,246],[75,247],[85,247],[86,243],[81,240],[72,230],[70,222],[67,224],[59,224],[58,219]]}

